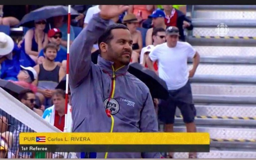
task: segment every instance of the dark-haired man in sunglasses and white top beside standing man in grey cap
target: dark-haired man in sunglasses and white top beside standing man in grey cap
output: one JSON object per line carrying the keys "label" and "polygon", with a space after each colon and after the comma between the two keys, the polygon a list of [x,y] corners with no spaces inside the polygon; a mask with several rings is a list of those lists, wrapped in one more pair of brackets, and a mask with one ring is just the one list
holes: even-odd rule
{"label": "dark-haired man in sunglasses and white top beside standing man in grey cap", "polygon": [[[146,64],[146,59],[149,56],[149,53],[155,48],[156,45],[166,42],[165,29],[154,28],[152,33],[152,40],[153,40],[153,45],[148,45],[146,47],[143,47],[140,53],[140,64],[146,68],[148,68],[148,65]],[[154,69],[155,71],[158,70],[157,61],[154,62]]]}

